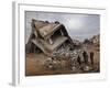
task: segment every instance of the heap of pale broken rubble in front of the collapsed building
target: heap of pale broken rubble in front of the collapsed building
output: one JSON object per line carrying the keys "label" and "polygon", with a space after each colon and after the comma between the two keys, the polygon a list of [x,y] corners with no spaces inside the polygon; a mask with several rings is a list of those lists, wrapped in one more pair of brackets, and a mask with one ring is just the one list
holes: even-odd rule
{"label": "heap of pale broken rubble in front of the collapsed building", "polygon": [[[50,69],[61,69],[62,62],[67,62],[67,68],[72,70],[79,69],[78,56],[82,54],[81,50],[72,50],[70,45],[62,45],[58,50],[54,51],[52,58],[45,62],[46,67]],[[81,58],[80,62],[84,62]],[[66,66],[65,66],[66,67]]]}

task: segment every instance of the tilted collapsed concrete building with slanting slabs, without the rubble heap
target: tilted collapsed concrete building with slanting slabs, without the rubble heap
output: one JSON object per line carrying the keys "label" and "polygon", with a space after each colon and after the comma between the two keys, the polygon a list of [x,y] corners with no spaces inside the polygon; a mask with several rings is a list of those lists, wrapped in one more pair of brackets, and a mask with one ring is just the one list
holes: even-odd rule
{"label": "tilted collapsed concrete building with slanting slabs, without the rubble heap", "polygon": [[69,45],[69,50],[74,48],[74,43],[67,33],[64,24],[59,22],[48,22],[32,20],[32,32],[26,44],[26,53],[43,52],[47,56],[61,46]]}

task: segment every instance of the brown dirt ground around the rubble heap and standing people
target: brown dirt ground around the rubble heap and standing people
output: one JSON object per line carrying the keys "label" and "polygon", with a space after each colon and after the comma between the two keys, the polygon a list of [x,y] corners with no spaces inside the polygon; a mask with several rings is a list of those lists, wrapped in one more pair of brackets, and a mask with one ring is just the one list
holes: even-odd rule
{"label": "brown dirt ground around the rubble heap and standing people", "polygon": [[[85,48],[86,47],[86,48]],[[86,50],[88,52],[95,53],[95,63],[92,66],[92,70],[84,72],[81,69],[77,69],[76,72],[73,72],[67,66],[67,61],[62,61],[61,67],[58,69],[48,69],[45,66],[45,62],[48,58],[43,53],[40,54],[26,54],[25,55],[25,76],[40,76],[40,75],[62,75],[62,74],[84,74],[84,73],[99,73],[100,72],[100,52],[99,47],[96,45],[87,45],[82,46],[81,50]],[[89,61],[90,62],[90,61]]]}

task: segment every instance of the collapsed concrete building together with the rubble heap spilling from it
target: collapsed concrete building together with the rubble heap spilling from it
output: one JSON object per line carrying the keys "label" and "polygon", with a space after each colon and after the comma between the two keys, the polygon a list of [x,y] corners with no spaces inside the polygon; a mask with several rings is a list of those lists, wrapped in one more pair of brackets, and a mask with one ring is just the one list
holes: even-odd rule
{"label": "collapsed concrete building together with the rubble heap spilling from it", "polygon": [[[90,70],[84,63],[84,50],[79,47],[80,42],[72,40],[64,24],[59,22],[48,22],[32,20],[32,31],[25,45],[26,53],[44,53],[47,59],[43,66],[50,69],[61,69],[66,67],[73,72],[77,69]],[[43,55],[44,55],[43,54]],[[63,62],[64,65],[63,65]],[[86,68],[87,67],[87,68]]]}

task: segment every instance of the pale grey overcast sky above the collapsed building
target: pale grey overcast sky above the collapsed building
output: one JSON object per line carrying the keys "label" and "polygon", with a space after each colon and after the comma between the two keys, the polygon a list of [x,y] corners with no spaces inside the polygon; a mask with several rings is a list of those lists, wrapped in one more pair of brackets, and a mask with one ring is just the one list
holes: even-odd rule
{"label": "pale grey overcast sky above the collapsed building", "polygon": [[31,33],[32,19],[63,23],[68,34],[79,41],[89,38],[100,33],[100,15],[77,13],[53,13],[53,12],[25,12],[26,42]]}

